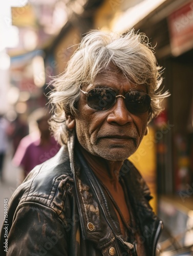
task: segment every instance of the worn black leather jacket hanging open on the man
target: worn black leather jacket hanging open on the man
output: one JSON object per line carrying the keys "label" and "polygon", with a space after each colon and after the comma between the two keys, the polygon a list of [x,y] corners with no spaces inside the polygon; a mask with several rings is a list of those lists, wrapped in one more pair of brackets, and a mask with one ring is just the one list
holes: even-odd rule
{"label": "worn black leather jacket hanging open on the man", "polygon": [[[9,202],[7,254],[4,226],[1,232],[2,256],[137,255],[122,239],[112,202],[74,150],[73,140],[55,157],[36,166],[16,189]],[[162,222],[148,204],[148,187],[128,160],[120,176],[127,184],[141,241],[147,255],[154,256]]]}

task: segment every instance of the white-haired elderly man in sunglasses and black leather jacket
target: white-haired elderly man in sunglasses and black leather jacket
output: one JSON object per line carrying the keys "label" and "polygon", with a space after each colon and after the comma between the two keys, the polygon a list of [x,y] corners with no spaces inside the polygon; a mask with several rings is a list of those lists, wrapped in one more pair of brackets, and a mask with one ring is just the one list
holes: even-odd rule
{"label": "white-haired elderly man in sunglasses and black leather jacket", "polygon": [[159,70],[143,34],[83,38],[50,95],[63,146],[15,191],[1,255],[7,238],[7,255],[156,255],[162,222],[127,158],[168,96]]}

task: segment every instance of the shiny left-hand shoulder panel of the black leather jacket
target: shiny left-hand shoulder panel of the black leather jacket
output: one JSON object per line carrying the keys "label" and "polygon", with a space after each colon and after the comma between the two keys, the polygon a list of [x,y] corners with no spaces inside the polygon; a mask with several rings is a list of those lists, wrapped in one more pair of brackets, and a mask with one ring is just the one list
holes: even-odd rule
{"label": "shiny left-hand shoulder panel of the black leather jacket", "polygon": [[68,150],[62,146],[53,158],[37,165],[16,189],[10,200],[11,208],[18,210],[25,204],[41,204],[59,216],[67,196],[73,194],[73,187]]}

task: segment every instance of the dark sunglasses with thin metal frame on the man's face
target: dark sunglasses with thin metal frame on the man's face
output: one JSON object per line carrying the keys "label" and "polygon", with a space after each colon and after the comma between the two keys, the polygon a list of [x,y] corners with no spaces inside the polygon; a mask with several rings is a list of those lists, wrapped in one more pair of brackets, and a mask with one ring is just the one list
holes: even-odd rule
{"label": "dark sunglasses with thin metal frame on the man's face", "polygon": [[80,90],[87,96],[87,104],[94,110],[109,110],[118,97],[123,97],[126,109],[132,114],[142,114],[148,111],[151,97],[142,92],[128,92],[124,96],[116,95],[110,89],[91,89],[89,92]]}

